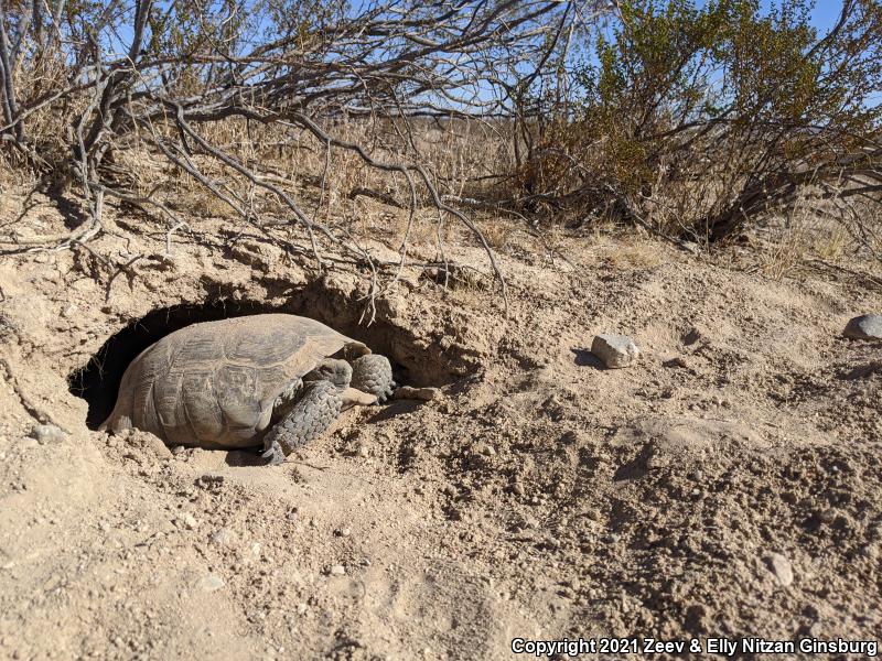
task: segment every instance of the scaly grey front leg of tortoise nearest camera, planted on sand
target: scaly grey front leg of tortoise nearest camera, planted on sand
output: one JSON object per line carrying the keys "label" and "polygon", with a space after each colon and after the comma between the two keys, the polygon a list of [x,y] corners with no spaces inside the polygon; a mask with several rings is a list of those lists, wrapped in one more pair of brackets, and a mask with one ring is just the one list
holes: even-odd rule
{"label": "scaly grey front leg of tortoise nearest camera, planted on sand", "polygon": [[340,415],[343,402],[330,381],[311,381],[291,411],[263,436],[265,459],[281,464],[298,447],[318,438]]}

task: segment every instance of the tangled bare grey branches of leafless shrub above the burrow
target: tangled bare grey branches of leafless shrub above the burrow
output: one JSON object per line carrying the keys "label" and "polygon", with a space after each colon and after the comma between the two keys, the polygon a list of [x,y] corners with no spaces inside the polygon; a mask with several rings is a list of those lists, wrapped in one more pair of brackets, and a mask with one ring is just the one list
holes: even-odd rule
{"label": "tangled bare grey branches of leafless shrub above the burrow", "polygon": [[[106,196],[159,213],[169,235],[186,226],[162,186],[146,193],[120,181],[117,158],[146,150],[319,270],[347,263],[366,272],[370,305],[413,263],[409,240],[426,199],[437,213],[433,263],[449,268],[443,228],[449,219],[461,224],[485,251],[505,300],[492,249],[469,216],[444,202],[412,126],[507,112],[512,90],[535,78],[574,17],[601,11],[600,3],[574,4],[0,0],[0,137],[37,170],[66,165],[78,182],[89,220],[57,248],[103,231]],[[65,130],[41,131],[49,116]],[[343,121],[361,122],[366,141],[336,136]],[[230,131],[233,141],[218,139]],[[312,214],[302,187],[267,164],[271,145],[302,148],[304,131],[324,153]],[[320,220],[337,152],[406,182],[398,259],[377,257],[369,236]]]}

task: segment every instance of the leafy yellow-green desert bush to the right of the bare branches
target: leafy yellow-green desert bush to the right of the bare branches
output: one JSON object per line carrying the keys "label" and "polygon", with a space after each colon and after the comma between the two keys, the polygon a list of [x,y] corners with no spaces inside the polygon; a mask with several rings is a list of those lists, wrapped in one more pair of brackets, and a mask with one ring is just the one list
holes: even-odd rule
{"label": "leafy yellow-green desert bush to the right of the bare branches", "polygon": [[[521,203],[712,242],[797,201],[878,201],[882,7],[627,0],[571,65],[566,105],[521,107]],[[829,206],[827,207],[829,212]]]}

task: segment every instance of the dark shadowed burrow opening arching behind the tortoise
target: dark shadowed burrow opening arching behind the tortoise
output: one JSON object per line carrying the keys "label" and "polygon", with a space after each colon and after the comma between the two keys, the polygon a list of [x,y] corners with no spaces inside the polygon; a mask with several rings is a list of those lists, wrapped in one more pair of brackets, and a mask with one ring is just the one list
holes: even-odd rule
{"label": "dark shadowed burrow opening arching behind the tortoise", "polygon": [[336,318],[322,318],[330,315],[308,314],[297,304],[278,306],[248,300],[180,304],[154,310],[130,323],[108,338],[85,366],[68,375],[71,393],[88,402],[86,426],[97,430],[110,415],[126,368],[160,338],[200,322],[269,313],[311,316],[353,339],[364,342],[375,353],[389,358],[399,384],[443,386],[467,371],[462,365],[455,365],[455,360],[448,362],[449,357],[440,347],[430,345],[420,348],[411,336],[389,324],[365,326],[358,324],[355,316],[349,318],[346,314],[333,313]]}

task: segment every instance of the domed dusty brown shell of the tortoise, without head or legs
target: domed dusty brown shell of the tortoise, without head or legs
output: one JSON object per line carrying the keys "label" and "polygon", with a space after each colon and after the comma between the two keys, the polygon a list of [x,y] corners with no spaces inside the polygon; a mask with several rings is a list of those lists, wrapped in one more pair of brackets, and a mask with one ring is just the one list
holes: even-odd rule
{"label": "domed dusty brown shell of the tortoise, without head or legs", "polygon": [[347,346],[370,351],[315,319],[289,314],[194,324],[131,362],[101,426],[128,418],[169,444],[256,445],[284,387]]}

